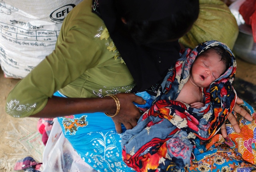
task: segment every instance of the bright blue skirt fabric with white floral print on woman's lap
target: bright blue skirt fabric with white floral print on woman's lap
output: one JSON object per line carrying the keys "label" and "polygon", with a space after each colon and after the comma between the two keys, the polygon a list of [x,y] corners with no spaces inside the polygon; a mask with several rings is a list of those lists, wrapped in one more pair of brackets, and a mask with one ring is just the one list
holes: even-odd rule
{"label": "bright blue skirt fabric with white floral print on woman's lap", "polygon": [[[65,97],[59,92],[55,96]],[[149,109],[153,99],[146,91],[137,93],[147,101],[138,107]],[[79,156],[98,172],[132,172],[122,160],[121,139],[114,122],[104,113],[76,114],[58,117],[62,132]],[[122,125],[122,130],[125,127]]]}

